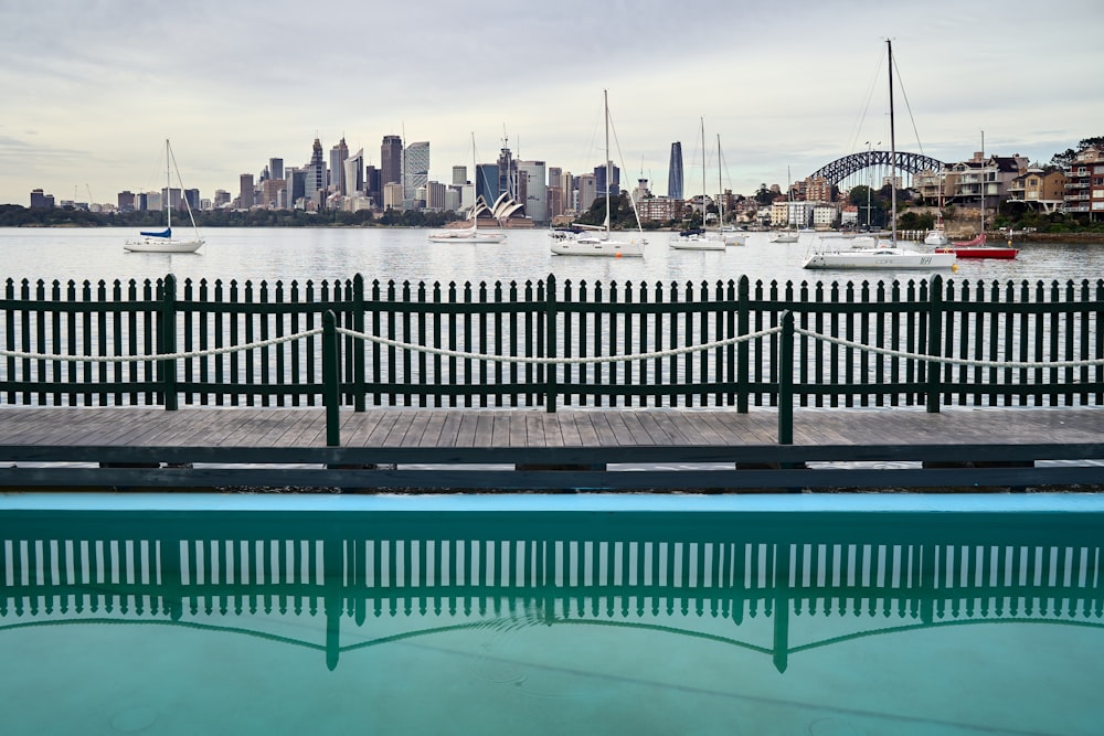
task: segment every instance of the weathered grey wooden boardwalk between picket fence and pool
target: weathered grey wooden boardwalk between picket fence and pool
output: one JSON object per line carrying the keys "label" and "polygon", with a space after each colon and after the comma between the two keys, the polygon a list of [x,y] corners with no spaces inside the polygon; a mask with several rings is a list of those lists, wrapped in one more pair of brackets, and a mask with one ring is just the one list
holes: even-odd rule
{"label": "weathered grey wooden boardwalk between picket fence and pool", "polygon": [[787,446],[771,409],[370,409],[342,412],[341,447],[320,408],[0,409],[9,490],[1104,484],[1086,460],[1104,460],[1104,408],[796,409]]}

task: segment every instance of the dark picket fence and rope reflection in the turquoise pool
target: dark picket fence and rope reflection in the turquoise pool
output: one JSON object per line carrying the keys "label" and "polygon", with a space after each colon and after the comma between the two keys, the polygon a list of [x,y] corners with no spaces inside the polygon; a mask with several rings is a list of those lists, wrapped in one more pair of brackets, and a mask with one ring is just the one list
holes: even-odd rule
{"label": "dark picket fence and rope reflection in the turquoise pool", "polygon": [[[615,621],[785,670],[902,628],[1101,626],[1100,529],[1094,514],[6,512],[0,636],[103,618],[233,627],[333,669],[443,627]],[[282,633],[289,618],[325,640]]]}

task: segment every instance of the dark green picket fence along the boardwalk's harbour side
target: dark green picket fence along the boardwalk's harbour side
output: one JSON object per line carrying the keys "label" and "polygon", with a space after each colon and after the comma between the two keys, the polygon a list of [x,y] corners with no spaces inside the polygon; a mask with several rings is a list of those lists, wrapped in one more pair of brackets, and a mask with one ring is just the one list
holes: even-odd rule
{"label": "dark green picket fence along the boardwalk's harbour side", "polygon": [[1089,406],[1102,326],[1104,279],[8,279],[0,404]]}

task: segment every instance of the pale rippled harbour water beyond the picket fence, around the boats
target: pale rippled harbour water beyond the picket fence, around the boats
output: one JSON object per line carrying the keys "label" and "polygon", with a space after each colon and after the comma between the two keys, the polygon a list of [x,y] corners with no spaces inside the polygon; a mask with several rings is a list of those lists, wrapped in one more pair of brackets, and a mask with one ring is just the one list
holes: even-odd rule
{"label": "pale rippled harbour water beyond the picket fence, around the boats", "polygon": [[[554,256],[548,231],[510,231],[502,243],[429,243],[425,230],[384,228],[212,228],[198,254],[127,253],[123,242],[132,235],[120,228],[0,228],[0,275],[31,279],[178,278],[289,281],[348,278],[399,282],[511,281],[543,279],[619,284],[702,280],[711,285],[742,275],[765,281],[878,281],[923,279],[923,271],[809,271],[802,262],[815,236],[803,234],[796,244],[775,244],[766,233],[750,234],[747,245],[724,252],[672,250],[667,233],[648,233],[645,257],[586,258]],[[1015,260],[959,260],[945,278],[1001,284],[1098,278],[1104,274],[1104,246],[1019,244]],[[924,249],[923,246],[920,246]]]}

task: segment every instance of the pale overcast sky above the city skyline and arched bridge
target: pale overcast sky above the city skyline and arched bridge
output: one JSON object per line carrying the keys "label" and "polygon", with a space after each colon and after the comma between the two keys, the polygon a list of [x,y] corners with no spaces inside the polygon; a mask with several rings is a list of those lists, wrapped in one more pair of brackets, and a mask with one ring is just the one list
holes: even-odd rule
{"label": "pale overcast sky above the city skyline and arched bridge", "polygon": [[[146,3],[0,0],[0,203],[115,202],[163,185],[236,195],[317,136],[379,164],[385,135],[428,140],[431,178],[521,159],[580,173],[603,160],[602,92],[623,184],[667,192],[682,141],[700,186],[750,194],[882,141],[885,39],[900,72],[898,150],[1049,161],[1104,135],[1100,0],[489,0]],[[327,158],[328,160],[328,158]],[[470,173],[469,173],[470,177]]]}

